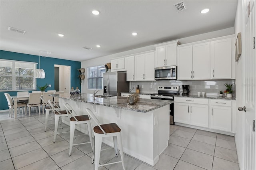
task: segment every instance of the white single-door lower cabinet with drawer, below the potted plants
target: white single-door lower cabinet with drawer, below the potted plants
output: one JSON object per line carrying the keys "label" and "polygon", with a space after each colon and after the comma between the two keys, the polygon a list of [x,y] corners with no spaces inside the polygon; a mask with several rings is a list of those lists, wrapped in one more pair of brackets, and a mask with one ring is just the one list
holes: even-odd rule
{"label": "white single-door lower cabinet with drawer, below the potted plants", "polygon": [[232,101],[211,100],[210,128],[231,132]]}

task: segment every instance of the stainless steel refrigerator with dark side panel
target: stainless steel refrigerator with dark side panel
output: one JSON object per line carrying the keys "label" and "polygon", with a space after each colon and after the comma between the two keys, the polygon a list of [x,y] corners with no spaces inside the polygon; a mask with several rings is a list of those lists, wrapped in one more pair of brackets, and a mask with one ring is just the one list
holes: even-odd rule
{"label": "stainless steel refrigerator with dark side panel", "polygon": [[103,95],[121,96],[121,92],[129,92],[129,82],[126,73],[103,73]]}

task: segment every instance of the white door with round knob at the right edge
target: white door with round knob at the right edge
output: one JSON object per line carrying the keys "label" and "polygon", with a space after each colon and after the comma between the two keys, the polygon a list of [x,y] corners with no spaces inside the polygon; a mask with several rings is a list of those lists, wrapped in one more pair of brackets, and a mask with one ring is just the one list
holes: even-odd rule
{"label": "white door with round knob at the right edge", "polygon": [[[245,1],[248,6],[249,1]],[[254,5],[253,5],[254,3]],[[256,49],[253,49],[252,38],[256,37],[256,1],[250,1],[251,13],[248,22],[245,24],[244,30],[244,106],[246,107],[244,120],[244,169],[256,169],[256,142],[255,131],[253,131],[253,121],[256,117]],[[240,104],[240,103],[239,103]],[[238,107],[243,107],[238,105]]]}

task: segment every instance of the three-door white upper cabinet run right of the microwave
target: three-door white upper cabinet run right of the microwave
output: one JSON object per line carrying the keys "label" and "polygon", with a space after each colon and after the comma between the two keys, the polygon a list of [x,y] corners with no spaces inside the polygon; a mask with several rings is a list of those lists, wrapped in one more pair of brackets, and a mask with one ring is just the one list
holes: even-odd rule
{"label": "three-door white upper cabinet run right of the microwave", "polygon": [[235,79],[233,40],[226,36],[179,45],[178,80]]}

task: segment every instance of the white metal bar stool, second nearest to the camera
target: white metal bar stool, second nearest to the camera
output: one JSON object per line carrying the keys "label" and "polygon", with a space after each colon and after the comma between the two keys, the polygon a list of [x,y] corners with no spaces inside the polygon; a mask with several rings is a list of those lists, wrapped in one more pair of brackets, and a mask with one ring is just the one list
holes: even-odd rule
{"label": "white metal bar stool, second nearest to the camera", "polygon": [[90,143],[91,147],[92,147],[92,150],[93,150],[93,146],[92,146],[92,129],[91,129],[91,123],[90,123],[89,116],[88,115],[79,115],[78,116],[76,114],[76,112],[74,111],[74,109],[68,103],[64,103],[64,107],[66,108],[66,112],[68,113],[68,115],[70,117],[70,142],[69,142],[69,154],[68,154],[68,156],[71,155],[72,146],[78,145],[78,144],[73,144],[75,127],[76,127],[77,124],[84,124],[84,123],[86,123],[87,128],[88,128],[89,138],[90,138],[90,142],[84,142],[84,143],[79,143],[79,144]]}

